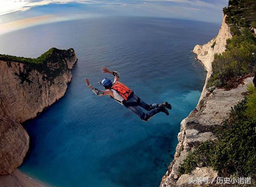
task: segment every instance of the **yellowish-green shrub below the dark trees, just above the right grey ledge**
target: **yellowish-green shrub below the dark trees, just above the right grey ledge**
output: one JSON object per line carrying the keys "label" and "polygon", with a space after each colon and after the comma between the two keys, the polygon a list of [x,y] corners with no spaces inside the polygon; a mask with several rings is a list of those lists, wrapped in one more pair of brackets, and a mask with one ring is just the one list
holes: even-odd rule
{"label": "yellowish-green shrub below the dark trees, just above the right grey ledge", "polygon": [[236,78],[256,69],[256,59],[253,56],[253,52],[256,52],[256,37],[249,29],[244,29],[241,33],[227,40],[227,49],[222,55],[215,55],[209,87],[232,88]]}

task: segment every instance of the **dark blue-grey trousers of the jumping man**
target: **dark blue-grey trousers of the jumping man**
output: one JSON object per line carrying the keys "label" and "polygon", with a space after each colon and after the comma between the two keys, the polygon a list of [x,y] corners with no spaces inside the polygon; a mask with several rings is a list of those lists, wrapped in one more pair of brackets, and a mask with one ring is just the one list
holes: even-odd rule
{"label": "dark blue-grey trousers of the jumping man", "polygon": [[[159,104],[148,105],[135,94],[125,102],[124,106],[140,117],[143,121],[148,121],[151,117],[160,112],[158,109]],[[142,108],[149,112],[145,113]]]}

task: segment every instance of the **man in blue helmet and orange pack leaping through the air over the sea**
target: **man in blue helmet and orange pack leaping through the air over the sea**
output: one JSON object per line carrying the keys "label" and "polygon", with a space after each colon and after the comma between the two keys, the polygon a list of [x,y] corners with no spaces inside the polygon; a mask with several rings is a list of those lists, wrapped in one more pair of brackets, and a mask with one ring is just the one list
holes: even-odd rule
{"label": "man in blue helmet and orange pack leaping through the air over the sea", "polygon": [[[167,109],[172,109],[171,104],[164,102],[162,104],[148,105],[144,101],[142,101],[137,95],[135,95],[130,88],[125,86],[125,84],[119,82],[120,75],[118,72],[109,71],[105,67],[102,68],[102,72],[110,73],[115,77],[113,83],[109,78],[105,78],[102,80],[102,82],[99,82],[105,88],[104,91],[96,89],[93,86],[91,86],[89,80],[85,78],[87,86],[96,95],[109,95],[118,103],[122,104],[123,106],[131,110],[131,112],[140,117],[143,121],[148,121],[151,117],[153,117],[155,114],[159,112],[164,112],[166,115],[169,115]],[[142,108],[149,112],[145,113]]]}

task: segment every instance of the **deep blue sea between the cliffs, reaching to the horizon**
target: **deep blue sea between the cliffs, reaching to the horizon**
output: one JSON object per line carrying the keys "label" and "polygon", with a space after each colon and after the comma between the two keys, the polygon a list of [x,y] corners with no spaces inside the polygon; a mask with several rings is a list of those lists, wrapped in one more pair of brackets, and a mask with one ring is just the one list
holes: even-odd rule
{"label": "deep blue sea between the cliffs, reaching to the horizon", "polygon": [[[157,187],[172,161],[180,122],[195,108],[206,72],[192,49],[219,25],[191,20],[105,17],[34,26],[0,35],[0,53],[38,57],[51,47],[79,58],[63,98],[24,125],[29,152],[20,170],[56,187]],[[87,88],[101,67],[121,74],[143,101],[168,101],[170,115],[143,122]]]}

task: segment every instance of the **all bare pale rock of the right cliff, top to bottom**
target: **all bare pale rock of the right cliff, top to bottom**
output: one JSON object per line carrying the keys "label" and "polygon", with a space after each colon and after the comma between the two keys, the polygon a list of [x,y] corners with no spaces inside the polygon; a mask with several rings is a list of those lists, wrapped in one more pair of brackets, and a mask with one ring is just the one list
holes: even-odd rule
{"label": "all bare pale rock of the right cliff, top to bottom", "polygon": [[217,175],[212,169],[199,168],[200,166],[193,170],[190,175],[179,175],[178,168],[190,150],[203,141],[215,138],[212,133],[213,129],[229,115],[231,106],[244,98],[247,85],[252,83],[253,80],[252,77],[246,78],[244,84],[240,84],[236,89],[229,91],[214,87],[207,89],[206,85],[212,72],[214,55],[224,52],[226,50],[226,40],[232,37],[230,27],[225,23],[225,19],[226,16],[224,15],[221,28],[215,38],[203,46],[196,45],[193,50],[198,55],[198,60],[205,66],[207,78],[196,109],[180,124],[175,157],[162,178],[161,187],[186,186],[185,183],[188,183],[189,180],[188,176],[198,175],[196,177],[201,177],[202,173],[209,170],[211,172],[207,173],[207,177],[213,178]]}

